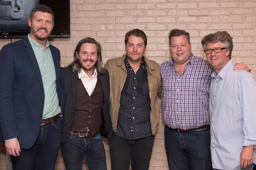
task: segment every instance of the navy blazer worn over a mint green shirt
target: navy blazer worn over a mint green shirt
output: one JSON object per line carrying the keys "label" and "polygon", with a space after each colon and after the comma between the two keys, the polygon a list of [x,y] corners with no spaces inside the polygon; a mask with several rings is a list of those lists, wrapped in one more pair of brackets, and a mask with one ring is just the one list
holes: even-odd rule
{"label": "navy blazer worn over a mint green shirt", "polygon": [[[60,51],[52,45],[50,49],[63,112]],[[0,51],[0,142],[18,137],[22,149],[31,148],[40,130],[43,108],[43,81],[28,37],[5,45]]]}

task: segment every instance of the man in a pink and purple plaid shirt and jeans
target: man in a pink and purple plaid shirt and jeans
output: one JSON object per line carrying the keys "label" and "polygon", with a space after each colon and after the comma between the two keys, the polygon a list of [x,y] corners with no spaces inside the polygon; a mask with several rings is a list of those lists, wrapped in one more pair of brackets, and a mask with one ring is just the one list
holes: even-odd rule
{"label": "man in a pink and purple plaid shirt and jeans", "polygon": [[[170,170],[212,170],[209,91],[212,68],[191,53],[190,34],[171,30],[172,59],[161,64],[162,114]],[[238,64],[234,69],[247,68]]]}

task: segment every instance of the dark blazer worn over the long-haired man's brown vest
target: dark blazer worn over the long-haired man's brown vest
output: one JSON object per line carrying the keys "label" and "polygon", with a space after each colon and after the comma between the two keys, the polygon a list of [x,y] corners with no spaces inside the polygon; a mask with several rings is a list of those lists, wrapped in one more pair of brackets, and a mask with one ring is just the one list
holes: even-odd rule
{"label": "dark blazer worn over the long-haired man's brown vest", "polygon": [[[106,123],[108,128],[107,139],[110,140],[112,137],[112,123],[109,114],[109,74],[105,70],[104,74],[99,74],[100,80],[102,82],[102,91],[104,97],[103,111],[106,115]],[[71,123],[73,120],[73,114],[75,110],[75,96],[76,96],[76,82],[78,78],[78,73],[74,73],[71,67],[61,68],[61,85],[62,89],[66,93],[66,102],[64,108],[64,118],[62,124],[62,143],[66,141],[69,134]]]}

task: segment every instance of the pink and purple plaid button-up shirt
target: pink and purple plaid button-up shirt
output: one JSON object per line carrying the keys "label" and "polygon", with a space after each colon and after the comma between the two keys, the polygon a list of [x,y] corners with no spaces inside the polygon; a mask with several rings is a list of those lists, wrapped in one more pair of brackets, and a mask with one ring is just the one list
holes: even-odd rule
{"label": "pink and purple plaid button-up shirt", "polygon": [[173,59],[161,64],[160,69],[163,79],[162,115],[166,125],[182,130],[209,125],[212,68],[207,61],[191,53],[180,76]]}

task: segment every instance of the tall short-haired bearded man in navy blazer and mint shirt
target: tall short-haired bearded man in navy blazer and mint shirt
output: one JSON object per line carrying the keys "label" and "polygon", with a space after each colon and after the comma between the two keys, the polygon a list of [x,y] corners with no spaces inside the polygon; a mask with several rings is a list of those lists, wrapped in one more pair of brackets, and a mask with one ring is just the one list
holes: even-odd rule
{"label": "tall short-haired bearded man in navy blazer and mint shirt", "polygon": [[47,38],[53,11],[36,6],[26,38],[0,51],[0,142],[13,170],[53,170],[61,141],[65,93],[60,85],[60,51]]}

